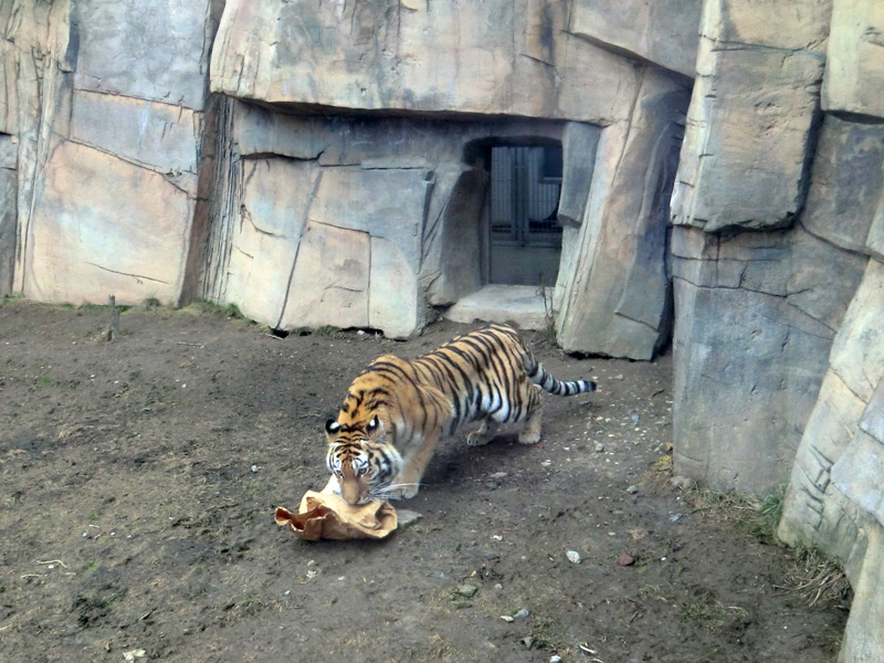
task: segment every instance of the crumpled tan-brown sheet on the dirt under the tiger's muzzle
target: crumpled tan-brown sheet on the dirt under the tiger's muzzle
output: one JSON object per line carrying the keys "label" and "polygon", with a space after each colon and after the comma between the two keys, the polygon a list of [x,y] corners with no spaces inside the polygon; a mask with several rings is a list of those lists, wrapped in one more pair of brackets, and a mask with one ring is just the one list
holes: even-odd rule
{"label": "crumpled tan-brown sheet on the dirt under the tiger's muzzle", "polygon": [[322,493],[307,491],[298,513],[276,507],[276,524],[291,529],[308,541],[327,539],[380,539],[396,529],[396,509],[389,502],[375,499],[350,506],[343,497],[326,487]]}

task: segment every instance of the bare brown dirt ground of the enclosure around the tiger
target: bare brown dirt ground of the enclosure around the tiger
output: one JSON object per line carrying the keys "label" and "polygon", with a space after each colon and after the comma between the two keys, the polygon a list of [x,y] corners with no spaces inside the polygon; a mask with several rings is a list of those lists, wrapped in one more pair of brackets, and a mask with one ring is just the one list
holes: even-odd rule
{"label": "bare brown dirt ground of the enclosure around the tiger", "polygon": [[666,481],[671,357],[534,339],[599,390],[545,396],[535,446],[443,441],[398,503],[422,519],[389,539],[309,544],[273,512],[324,485],[349,381],[470,327],[278,338],[135,307],[107,343],[107,323],[0,304],[3,662],[834,660],[845,612],[782,589],[787,550]]}

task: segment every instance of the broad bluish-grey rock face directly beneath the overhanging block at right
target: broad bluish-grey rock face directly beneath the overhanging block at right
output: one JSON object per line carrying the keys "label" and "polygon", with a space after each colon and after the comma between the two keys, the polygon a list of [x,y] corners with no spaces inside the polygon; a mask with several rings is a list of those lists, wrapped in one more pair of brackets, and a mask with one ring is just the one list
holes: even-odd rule
{"label": "broad bluish-grey rock face directly beneath the overhanging block at right", "polygon": [[676,470],[767,494],[789,476],[866,261],[800,229],[676,228],[672,251]]}

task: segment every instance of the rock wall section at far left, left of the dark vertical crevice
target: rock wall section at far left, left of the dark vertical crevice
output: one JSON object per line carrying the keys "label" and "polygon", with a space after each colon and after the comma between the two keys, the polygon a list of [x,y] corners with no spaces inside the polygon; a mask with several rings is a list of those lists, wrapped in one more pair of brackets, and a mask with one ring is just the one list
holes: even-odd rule
{"label": "rock wall section at far left, left of the dark vertical crevice", "polygon": [[28,297],[178,303],[218,8],[208,0],[0,7],[0,135],[9,135],[0,141],[0,194],[14,199],[0,225],[0,276],[11,253],[9,290]]}

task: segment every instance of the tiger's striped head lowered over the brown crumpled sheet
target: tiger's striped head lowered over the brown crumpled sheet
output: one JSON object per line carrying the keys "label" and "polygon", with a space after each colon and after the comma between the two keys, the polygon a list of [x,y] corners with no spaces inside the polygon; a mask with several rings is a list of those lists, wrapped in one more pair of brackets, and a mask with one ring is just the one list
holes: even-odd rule
{"label": "tiger's striped head lowered over the brown crumpled sheet", "polygon": [[[378,414],[367,421],[329,419],[325,423],[328,439],[326,465],[332,486],[347,504],[358,505],[375,498],[383,499],[402,466],[402,457],[386,441],[385,423]],[[335,485],[337,484],[337,485]]]}

